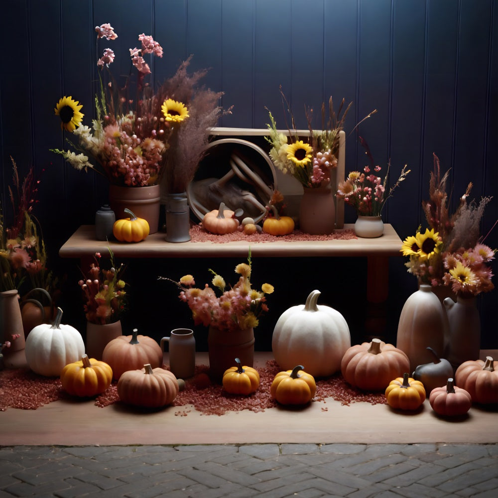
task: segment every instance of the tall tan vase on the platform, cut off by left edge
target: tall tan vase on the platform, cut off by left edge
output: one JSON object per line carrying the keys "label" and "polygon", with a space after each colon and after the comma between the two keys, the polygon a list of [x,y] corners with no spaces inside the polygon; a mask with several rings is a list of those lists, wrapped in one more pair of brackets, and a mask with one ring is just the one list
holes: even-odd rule
{"label": "tall tan vase on the platform, cut off by left edge", "polygon": [[[13,336],[18,335],[16,339]],[[0,343],[10,342],[10,347],[2,351],[3,367],[17,369],[27,367],[24,348],[24,328],[17,290],[0,292]]]}

